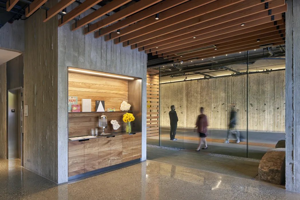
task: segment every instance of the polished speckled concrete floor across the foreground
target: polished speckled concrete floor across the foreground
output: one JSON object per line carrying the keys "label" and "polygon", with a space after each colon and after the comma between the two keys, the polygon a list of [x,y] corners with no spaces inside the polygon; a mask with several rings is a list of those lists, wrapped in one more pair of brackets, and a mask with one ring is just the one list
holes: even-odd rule
{"label": "polished speckled concrete floor across the foreground", "polygon": [[300,199],[280,186],[151,160],[62,185],[21,168],[19,160],[0,160],[0,188],[5,200]]}

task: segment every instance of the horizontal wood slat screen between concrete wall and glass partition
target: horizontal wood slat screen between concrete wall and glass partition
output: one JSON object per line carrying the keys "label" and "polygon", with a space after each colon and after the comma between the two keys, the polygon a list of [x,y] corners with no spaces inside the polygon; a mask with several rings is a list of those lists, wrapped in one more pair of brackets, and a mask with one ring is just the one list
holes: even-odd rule
{"label": "horizontal wood slat screen between concrete wall and glass partition", "polygon": [[158,70],[147,70],[147,137],[159,135],[159,73]]}

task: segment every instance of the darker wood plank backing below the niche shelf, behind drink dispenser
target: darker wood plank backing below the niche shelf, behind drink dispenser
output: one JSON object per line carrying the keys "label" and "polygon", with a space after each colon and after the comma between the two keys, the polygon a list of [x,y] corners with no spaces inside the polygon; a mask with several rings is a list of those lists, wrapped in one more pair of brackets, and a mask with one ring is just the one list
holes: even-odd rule
{"label": "darker wood plank backing below the niche shelf, behind drink dispenser", "polygon": [[102,114],[107,116],[107,128],[104,129],[105,133],[113,133],[113,125],[111,120],[117,120],[120,128],[115,132],[125,131],[126,123],[123,122],[123,115],[126,112],[69,112],[69,137],[87,136],[90,135],[92,128],[98,128],[98,133],[102,133],[99,128],[99,116]]}

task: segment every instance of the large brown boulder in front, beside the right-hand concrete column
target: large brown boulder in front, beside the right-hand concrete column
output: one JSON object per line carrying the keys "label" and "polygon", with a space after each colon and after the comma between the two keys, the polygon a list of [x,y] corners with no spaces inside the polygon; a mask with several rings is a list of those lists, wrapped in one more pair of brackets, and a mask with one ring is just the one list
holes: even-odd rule
{"label": "large brown boulder in front, beside the right-hand concrete column", "polygon": [[270,149],[260,160],[258,178],[272,184],[285,184],[285,148]]}

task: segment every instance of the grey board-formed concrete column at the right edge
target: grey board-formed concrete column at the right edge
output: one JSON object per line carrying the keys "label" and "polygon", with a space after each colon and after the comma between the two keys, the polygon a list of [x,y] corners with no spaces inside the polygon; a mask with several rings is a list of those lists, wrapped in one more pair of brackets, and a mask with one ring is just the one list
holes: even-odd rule
{"label": "grey board-formed concrete column at the right edge", "polygon": [[300,192],[300,0],[286,3],[286,189]]}

